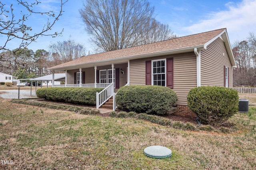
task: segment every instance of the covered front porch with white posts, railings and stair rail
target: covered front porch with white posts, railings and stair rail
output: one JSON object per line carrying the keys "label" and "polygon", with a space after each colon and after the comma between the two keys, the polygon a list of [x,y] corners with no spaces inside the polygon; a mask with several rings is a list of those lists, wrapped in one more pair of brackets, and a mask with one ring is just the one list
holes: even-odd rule
{"label": "covered front porch with white posts, railings and stair rail", "polygon": [[[120,61],[119,61],[120,62]],[[96,94],[96,108],[113,98],[113,110],[116,109],[115,94],[120,87],[129,85],[130,61],[123,63],[105,63],[104,65],[81,65],[65,70],[52,71],[52,87],[104,88]],[[54,84],[55,71],[65,71],[65,84]]]}

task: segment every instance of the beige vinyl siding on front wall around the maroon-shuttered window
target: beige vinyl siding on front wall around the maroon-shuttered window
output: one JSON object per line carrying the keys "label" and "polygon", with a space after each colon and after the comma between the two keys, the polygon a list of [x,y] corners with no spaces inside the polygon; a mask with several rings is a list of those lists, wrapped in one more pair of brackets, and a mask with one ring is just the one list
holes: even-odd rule
{"label": "beige vinyl siding on front wall around the maroon-shuttered window", "polygon": [[196,55],[194,52],[134,59],[130,61],[130,85],[146,84],[146,61],[173,57],[173,90],[178,96],[178,105],[187,104],[187,94],[196,87]]}

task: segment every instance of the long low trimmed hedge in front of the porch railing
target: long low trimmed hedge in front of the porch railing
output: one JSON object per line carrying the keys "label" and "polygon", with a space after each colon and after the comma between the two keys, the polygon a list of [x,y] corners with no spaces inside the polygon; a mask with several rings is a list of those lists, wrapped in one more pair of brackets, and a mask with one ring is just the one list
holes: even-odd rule
{"label": "long low trimmed hedge in front of the porch railing", "polygon": [[42,88],[36,91],[36,95],[41,99],[50,101],[96,105],[96,92],[100,92],[102,90],[102,88]]}

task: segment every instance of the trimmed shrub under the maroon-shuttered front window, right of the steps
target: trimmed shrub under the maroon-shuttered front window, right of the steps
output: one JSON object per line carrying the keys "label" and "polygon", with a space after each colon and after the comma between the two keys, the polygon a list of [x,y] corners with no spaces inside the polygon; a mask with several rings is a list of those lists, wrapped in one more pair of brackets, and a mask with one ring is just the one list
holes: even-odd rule
{"label": "trimmed shrub under the maroon-shuttered front window, right of the steps", "polygon": [[178,100],[176,93],[157,85],[124,86],[116,94],[118,108],[148,114],[170,114]]}

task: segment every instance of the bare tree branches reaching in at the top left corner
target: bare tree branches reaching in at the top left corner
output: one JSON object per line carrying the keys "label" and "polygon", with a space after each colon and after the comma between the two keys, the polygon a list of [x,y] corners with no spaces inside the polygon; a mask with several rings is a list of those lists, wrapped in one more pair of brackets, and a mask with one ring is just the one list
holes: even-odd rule
{"label": "bare tree branches reaching in at the top left corner", "polygon": [[[0,1],[0,35],[1,35],[1,42],[0,42],[0,50],[2,51],[12,51],[14,54],[18,52],[19,54],[22,53],[21,49],[26,49],[26,47],[32,43],[36,42],[39,36],[52,36],[56,37],[61,32],[52,32],[52,27],[54,24],[59,20],[60,16],[62,15],[62,6],[68,1],[65,0],[64,2],[60,0],[60,10],[56,14],[53,10],[50,11],[36,11],[37,7],[40,6],[41,2],[35,0],[34,2],[28,2],[24,0],[16,0],[18,3],[19,8],[14,9],[13,4],[10,6],[6,6],[3,2]],[[20,15],[16,15],[17,12],[20,11]],[[42,29],[37,31],[33,31],[31,26],[28,26],[27,20],[30,16],[34,16],[39,18],[47,18],[47,22],[42,25]],[[20,41],[20,45],[16,50],[8,49],[8,43],[11,41]],[[1,55],[2,54],[2,55]],[[6,62],[17,62],[17,57],[12,57],[14,60],[10,60],[11,58],[6,56],[4,57],[5,53],[0,54],[0,67],[4,67],[2,63]],[[17,55],[18,56],[18,55]],[[6,61],[6,62],[5,62]],[[20,63],[18,63],[20,64]]]}

